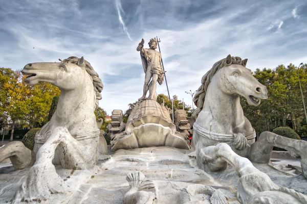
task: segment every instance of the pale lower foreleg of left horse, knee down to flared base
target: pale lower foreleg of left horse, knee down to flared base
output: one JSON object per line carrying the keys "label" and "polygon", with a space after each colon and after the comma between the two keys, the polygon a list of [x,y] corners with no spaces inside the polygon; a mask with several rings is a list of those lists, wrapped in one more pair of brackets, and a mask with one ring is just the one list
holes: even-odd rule
{"label": "pale lower foreleg of left horse, knee down to flared base", "polygon": [[14,200],[47,200],[51,194],[70,192],[70,187],[65,184],[56,173],[52,160],[56,147],[72,137],[65,127],[56,127],[53,134],[37,151],[36,162],[29,169],[29,173],[21,187],[14,196]]}

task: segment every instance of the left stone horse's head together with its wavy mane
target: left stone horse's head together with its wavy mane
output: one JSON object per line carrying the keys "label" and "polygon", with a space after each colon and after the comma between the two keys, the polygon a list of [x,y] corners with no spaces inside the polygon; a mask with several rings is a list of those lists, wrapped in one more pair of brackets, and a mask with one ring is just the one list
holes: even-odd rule
{"label": "left stone horse's head together with its wavy mane", "polygon": [[80,89],[93,89],[95,107],[98,106],[98,100],[101,99],[100,92],[103,84],[97,72],[86,60],[77,57],[69,57],[61,62],[38,62],[27,64],[21,73],[28,75],[25,82],[29,85],[35,85],[39,82],[49,82],[61,91],[70,91]]}

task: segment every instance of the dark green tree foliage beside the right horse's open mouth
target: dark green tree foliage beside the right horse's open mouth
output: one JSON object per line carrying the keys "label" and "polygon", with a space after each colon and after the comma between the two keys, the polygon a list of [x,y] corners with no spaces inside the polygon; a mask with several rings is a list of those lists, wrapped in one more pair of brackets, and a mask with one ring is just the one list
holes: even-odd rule
{"label": "dark green tree foliage beside the right horse's open mouth", "polygon": [[301,123],[305,117],[298,73],[306,103],[306,69],[297,70],[297,67],[290,64],[288,67],[279,65],[275,69],[256,69],[253,73],[261,84],[267,86],[269,98],[261,100],[261,104],[257,107],[248,105],[243,97],[240,97],[240,100],[245,116],[250,120],[258,135],[263,131],[272,131],[279,126],[289,126],[298,133],[302,130]]}

